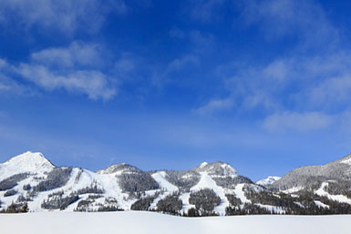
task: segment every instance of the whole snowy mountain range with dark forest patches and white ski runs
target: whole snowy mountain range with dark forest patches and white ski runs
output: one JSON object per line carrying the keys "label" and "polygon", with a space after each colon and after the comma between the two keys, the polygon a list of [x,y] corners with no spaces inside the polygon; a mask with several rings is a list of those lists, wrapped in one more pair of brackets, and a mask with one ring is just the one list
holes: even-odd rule
{"label": "whole snowy mountain range with dark forest patches and white ski runs", "polygon": [[89,171],[26,152],[0,164],[0,210],[157,210],[187,216],[351,213],[351,157],[253,183],[223,162],[184,171]]}

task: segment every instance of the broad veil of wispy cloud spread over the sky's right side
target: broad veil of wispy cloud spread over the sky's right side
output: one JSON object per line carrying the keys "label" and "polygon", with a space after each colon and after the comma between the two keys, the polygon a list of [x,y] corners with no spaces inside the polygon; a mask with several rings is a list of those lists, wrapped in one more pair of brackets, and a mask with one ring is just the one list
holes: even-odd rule
{"label": "broad veil of wispy cloud spread over the sky's right side", "polygon": [[[232,61],[218,66],[228,97],[198,107],[263,110],[267,130],[310,131],[328,127],[346,112],[351,97],[351,51],[323,8],[314,1],[242,1],[246,25],[258,25],[268,43],[294,37],[289,53],[268,62]],[[297,36],[296,36],[297,35]],[[315,50],[314,48],[321,48]],[[232,100],[231,105],[220,105]],[[215,105],[217,104],[217,105]],[[217,107],[218,106],[218,107]]]}

